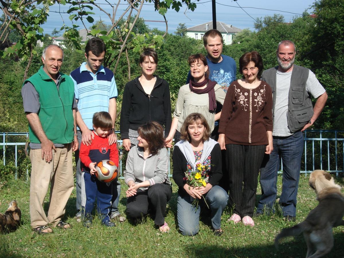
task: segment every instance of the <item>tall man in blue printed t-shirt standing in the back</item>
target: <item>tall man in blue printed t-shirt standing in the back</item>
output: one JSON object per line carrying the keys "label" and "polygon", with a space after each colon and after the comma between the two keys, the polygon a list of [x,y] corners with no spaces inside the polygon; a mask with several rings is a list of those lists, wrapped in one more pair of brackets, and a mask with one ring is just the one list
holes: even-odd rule
{"label": "tall man in blue printed t-shirt standing in the back", "polygon": [[[203,36],[204,47],[207,51],[207,62],[209,68],[209,79],[221,85],[224,92],[227,93],[229,85],[236,80],[236,63],[234,59],[227,55],[222,55],[223,37],[218,30],[208,30]],[[190,72],[187,76],[186,83],[192,78]],[[216,113],[220,112],[222,105],[216,102]],[[218,121],[215,121],[215,128],[211,134],[211,138],[218,139]],[[224,155],[223,151],[223,155]],[[224,161],[225,159],[223,159]],[[228,192],[228,173],[223,162],[223,178],[220,186]]]}

